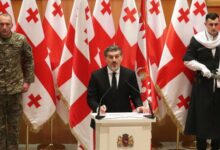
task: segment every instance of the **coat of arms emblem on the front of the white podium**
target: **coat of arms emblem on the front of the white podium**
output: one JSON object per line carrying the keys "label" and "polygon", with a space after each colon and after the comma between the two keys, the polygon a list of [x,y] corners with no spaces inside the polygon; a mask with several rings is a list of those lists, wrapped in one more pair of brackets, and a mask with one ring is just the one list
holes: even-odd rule
{"label": "coat of arms emblem on the front of the white podium", "polygon": [[122,136],[118,136],[117,146],[118,147],[133,147],[134,146],[133,136],[127,133],[122,134]]}

